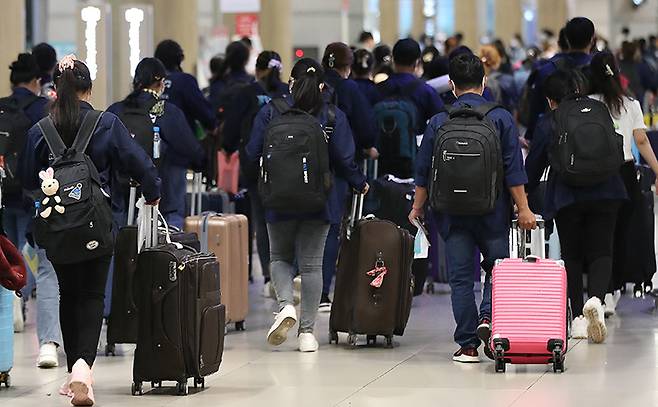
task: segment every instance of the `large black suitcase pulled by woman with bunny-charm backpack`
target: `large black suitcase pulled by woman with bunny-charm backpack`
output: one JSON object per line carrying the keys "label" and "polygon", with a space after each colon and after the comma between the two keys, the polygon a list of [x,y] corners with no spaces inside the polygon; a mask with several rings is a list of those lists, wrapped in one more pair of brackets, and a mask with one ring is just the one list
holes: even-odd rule
{"label": "large black suitcase pulled by woman with bunny-charm backpack", "polygon": [[225,307],[220,303],[219,263],[180,243],[157,241],[157,207],[147,207],[145,247],[137,258],[135,293],[140,323],[133,361],[132,394],[143,382],[161,386],[187,381],[204,386],[219,370],[224,350]]}

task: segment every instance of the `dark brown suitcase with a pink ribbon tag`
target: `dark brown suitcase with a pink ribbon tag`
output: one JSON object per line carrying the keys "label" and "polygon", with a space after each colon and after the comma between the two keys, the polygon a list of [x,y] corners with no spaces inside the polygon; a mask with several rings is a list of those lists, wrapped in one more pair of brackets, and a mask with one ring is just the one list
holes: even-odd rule
{"label": "dark brown suitcase with a pink ribbon tag", "polygon": [[356,195],[338,257],[329,339],[338,343],[338,332],[347,332],[350,346],[357,335],[374,345],[381,335],[392,347],[411,312],[414,239],[393,222],[361,219],[362,211],[363,195]]}

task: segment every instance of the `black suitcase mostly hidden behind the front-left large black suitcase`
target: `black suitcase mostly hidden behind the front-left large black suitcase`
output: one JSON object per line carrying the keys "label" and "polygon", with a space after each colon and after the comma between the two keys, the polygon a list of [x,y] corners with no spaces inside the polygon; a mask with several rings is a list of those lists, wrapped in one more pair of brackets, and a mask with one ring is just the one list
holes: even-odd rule
{"label": "black suitcase mostly hidden behind the front-left large black suitcase", "polygon": [[[131,186],[128,200],[128,223],[121,228],[114,247],[114,270],[112,277],[112,301],[107,319],[107,344],[105,356],[116,355],[116,344],[137,343],[137,305],[133,296],[135,269],[137,268],[137,226],[135,220],[135,200],[137,187]],[[196,233],[170,230],[172,242],[181,243],[196,251],[201,243]],[[165,231],[159,228],[158,243],[166,243]]]}

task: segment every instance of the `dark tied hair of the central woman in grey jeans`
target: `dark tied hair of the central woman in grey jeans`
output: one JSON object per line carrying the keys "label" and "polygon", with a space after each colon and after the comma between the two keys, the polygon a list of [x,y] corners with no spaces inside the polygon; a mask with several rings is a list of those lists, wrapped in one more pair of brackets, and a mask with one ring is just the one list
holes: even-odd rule
{"label": "dark tied hair of the central woman in grey jeans", "polygon": [[302,58],[292,68],[293,107],[316,115],[322,109],[324,101],[320,85],[324,83],[324,70],[312,58]]}

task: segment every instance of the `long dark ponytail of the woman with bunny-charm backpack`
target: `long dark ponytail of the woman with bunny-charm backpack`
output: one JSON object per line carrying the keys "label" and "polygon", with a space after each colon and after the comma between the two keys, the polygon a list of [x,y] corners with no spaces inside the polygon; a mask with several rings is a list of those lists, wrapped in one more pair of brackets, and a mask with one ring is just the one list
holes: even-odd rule
{"label": "long dark ponytail of the woman with bunny-charm backpack", "polygon": [[91,74],[84,62],[75,60],[72,67],[55,68],[57,99],[50,111],[62,141],[73,144],[80,125],[80,99],[78,94],[91,90]]}

